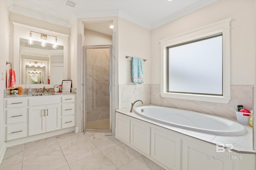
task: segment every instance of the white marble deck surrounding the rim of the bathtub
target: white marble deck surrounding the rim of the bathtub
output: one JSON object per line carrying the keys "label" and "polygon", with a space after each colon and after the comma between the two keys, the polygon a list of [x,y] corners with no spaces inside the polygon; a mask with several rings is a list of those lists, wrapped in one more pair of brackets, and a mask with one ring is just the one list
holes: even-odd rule
{"label": "white marble deck surrounding the rim of the bathtub", "polygon": [[[155,105],[147,105],[147,106],[155,106]],[[136,108],[136,107],[134,107]],[[190,137],[194,137],[197,139],[200,139],[202,141],[206,141],[208,143],[212,144],[233,144],[234,148],[232,149],[235,152],[238,153],[256,153],[255,150],[252,149],[252,127],[249,125],[243,125],[246,129],[246,134],[244,135],[239,135],[239,136],[220,136],[220,135],[212,135],[212,134],[207,134],[207,133],[201,133],[201,132],[196,132],[196,131],[190,131],[186,129],[181,129],[177,127],[172,127],[168,125],[164,125],[162,123],[154,122],[148,119],[145,119],[143,117],[140,117],[136,113],[131,113],[130,108],[126,109],[117,109],[116,110],[119,113],[123,113],[125,115],[134,117],[136,119],[141,119],[142,121],[147,121],[149,123],[152,123],[154,125],[158,125],[161,127],[164,127],[166,129],[170,129],[172,131],[176,131],[178,133],[182,133],[184,135],[188,135]],[[223,117],[226,118],[226,117]],[[236,121],[236,119],[230,119],[232,121]]]}

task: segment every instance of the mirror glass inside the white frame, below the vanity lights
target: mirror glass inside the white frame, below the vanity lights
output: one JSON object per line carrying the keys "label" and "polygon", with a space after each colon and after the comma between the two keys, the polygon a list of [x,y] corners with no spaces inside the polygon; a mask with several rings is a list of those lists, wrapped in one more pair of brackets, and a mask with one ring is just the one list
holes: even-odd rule
{"label": "mirror glass inside the white frame, below the vanity lights", "polygon": [[41,47],[20,38],[20,84],[61,84],[64,79],[64,47]]}

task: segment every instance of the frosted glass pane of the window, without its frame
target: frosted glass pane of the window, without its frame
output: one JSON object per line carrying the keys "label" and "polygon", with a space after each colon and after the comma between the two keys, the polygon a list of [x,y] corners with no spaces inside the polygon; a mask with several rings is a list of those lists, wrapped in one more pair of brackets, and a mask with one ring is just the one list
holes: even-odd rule
{"label": "frosted glass pane of the window, without its frame", "polygon": [[167,50],[168,92],[222,95],[222,35]]}

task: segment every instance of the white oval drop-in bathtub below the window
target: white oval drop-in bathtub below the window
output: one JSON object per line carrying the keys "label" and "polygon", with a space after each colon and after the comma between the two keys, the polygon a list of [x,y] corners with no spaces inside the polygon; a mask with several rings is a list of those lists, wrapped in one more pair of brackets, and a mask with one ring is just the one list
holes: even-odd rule
{"label": "white oval drop-in bathtub below the window", "polygon": [[244,135],[246,129],[237,122],[221,117],[160,106],[136,107],[134,112],[141,117],[191,131],[213,135]]}

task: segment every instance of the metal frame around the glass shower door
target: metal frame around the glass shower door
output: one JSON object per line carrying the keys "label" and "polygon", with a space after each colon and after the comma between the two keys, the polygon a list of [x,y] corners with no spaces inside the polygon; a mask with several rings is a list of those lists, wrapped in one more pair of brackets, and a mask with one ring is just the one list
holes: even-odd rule
{"label": "metal frame around the glass shower door", "polygon": [[[86,122],[86,49],[110,49],[110,56],[109,56],[109,127],[110,129],[87,129],[87,122]],[[83,131],[93,131],[93,132],[112,132],[112,45],[86,45],[83,46]]]}

